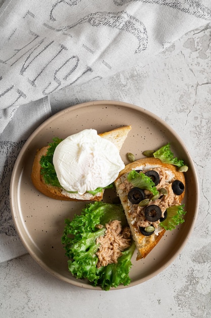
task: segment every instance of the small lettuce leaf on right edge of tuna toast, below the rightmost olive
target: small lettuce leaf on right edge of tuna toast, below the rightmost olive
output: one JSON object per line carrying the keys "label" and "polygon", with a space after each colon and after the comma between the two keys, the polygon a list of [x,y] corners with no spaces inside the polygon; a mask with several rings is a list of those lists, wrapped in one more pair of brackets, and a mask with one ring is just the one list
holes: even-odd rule
{"label": "small lettuce leaf on right edge of tuna toast, below the rightmost olive", "polygon": [[176,226],[182,224],[184,220],[184,215],[186,211],[184,211],[185,205],[173,205],[166,209],[167,217],[164,221],[160,222],[159,226],[164,228],[165,230],[174,230]]}

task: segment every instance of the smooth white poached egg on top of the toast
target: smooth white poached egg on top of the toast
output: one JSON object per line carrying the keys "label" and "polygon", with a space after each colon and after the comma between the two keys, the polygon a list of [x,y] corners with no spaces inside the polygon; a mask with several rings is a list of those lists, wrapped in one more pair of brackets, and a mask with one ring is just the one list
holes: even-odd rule
{"label": "smooth white poached egg on top of the toast", "polygon": [[86,129],[56,147],[53,165],[61,186],[79,195],[111,184],[124,169],[117,147]]}

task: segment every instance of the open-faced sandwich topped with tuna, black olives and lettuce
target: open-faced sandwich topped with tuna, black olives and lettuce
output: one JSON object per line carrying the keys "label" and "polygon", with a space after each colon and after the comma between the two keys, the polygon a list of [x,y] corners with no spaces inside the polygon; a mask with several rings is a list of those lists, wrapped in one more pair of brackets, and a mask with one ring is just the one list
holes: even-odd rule
{"label": "open-faced sandwich topped with tuna, black olives and lettuce", "polygon": [[145,258],[166,230],[184,221],[187,166],[173,157],[167,144],[125,166],[115,180],[117,195],[124,208],[137,247],[137,260]]}

